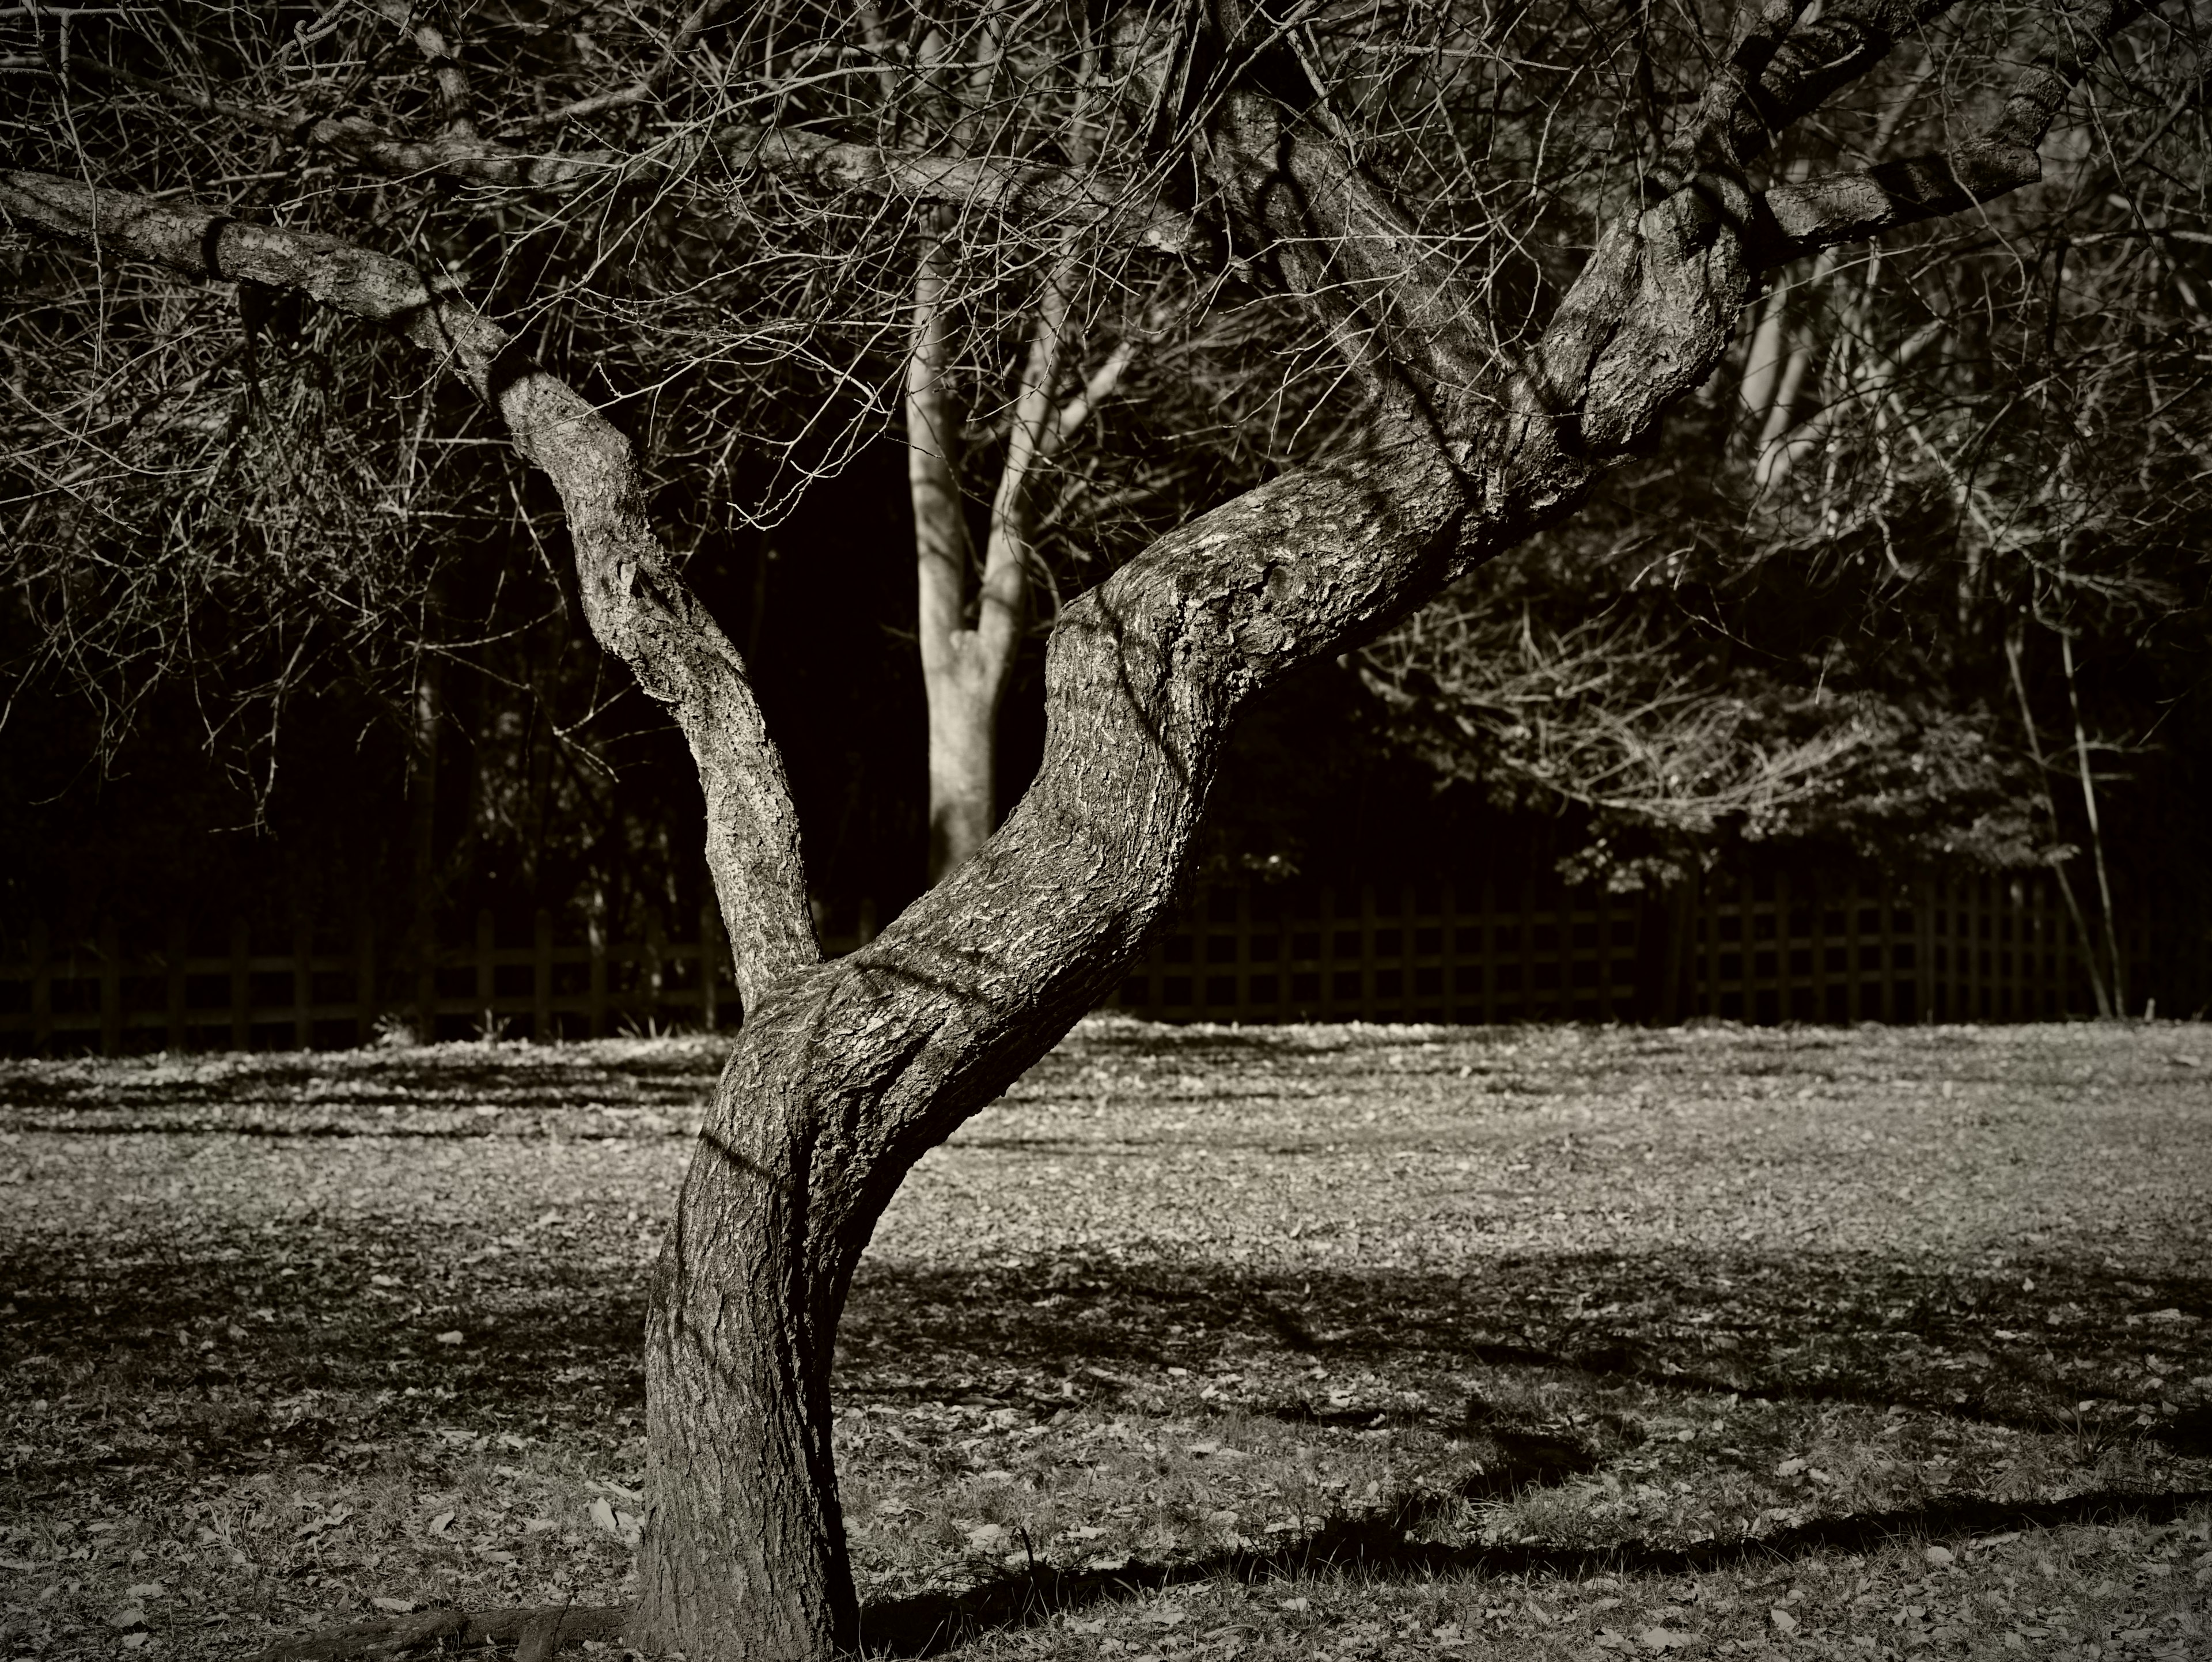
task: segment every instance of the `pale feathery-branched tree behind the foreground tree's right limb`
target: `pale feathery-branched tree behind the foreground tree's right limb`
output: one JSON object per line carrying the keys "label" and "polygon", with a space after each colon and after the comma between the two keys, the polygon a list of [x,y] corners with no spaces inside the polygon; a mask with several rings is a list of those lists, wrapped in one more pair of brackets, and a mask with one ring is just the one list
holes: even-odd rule
{"label": "pale feathery-branched tree behind the foreground tree's right limb", "polygon": [[[1931,73],[1869,82],[1876,142]],[[2124,1007],[2095,803],[2194,801],[2212,644],[2212,409],[2183,367],[2205,113],[2183,93],[2132,120],[2075,135],[2062,188],[1776,281],[1650,458],[1369,648],[1398,744],[1577,812],[1568,870],[1619,890],[1747,845],[1898,876],[2051,868],[2099,1007]],[[1801,128],[1783,166],[1832,148]],[[2075,724],[2084,693],[2101,724]],[[2188,841],[2130,839],[2141,892],[2197,901]]]}

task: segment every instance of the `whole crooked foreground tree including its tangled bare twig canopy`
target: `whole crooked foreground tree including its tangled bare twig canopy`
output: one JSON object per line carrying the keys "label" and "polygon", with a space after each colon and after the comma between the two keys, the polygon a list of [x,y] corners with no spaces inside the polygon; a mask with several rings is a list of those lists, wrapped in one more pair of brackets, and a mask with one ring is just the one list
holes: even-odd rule
{"label": "whole crooked foreground tree including its tangled bare twig canopy", "polygon": [[[148,478],[206,480],[237,445],[221,416],[184,420],[243,376],[228,319],[175,294],[303,294],[396,328],[498,412],[562,496],[593,633],[699,764],[748,1009],[653,1284],[641,1647],[854,1642],[830,1441],[854,1266],[911,1164],[1172,903],[1237,715],[1648,454],[1765,272],[2035,186],[2062,117],[2099,135],[2124,86],[2174,77],[2179,100],[2194,22],[2121,0],[35,22],[0,212],[46,615],[82,617],[62,591],[86,573],[188,558],[190,524],[142,529]],[[2057,148],[2068,177],[2112,153]],[[1029,398],[1031,443],[1144,319],[1197,334],[1254,308],[1287,465],[1057,609],[1029,794],[818,963],[774,744],[635,454],[834,467],[898,407],[931,250],[940,374],[971,376],[975,409],[995,387],[1015,434]],[[1024,383],[1046,283],[1071,345]],[[330,365],[363,396],[422,376],[369,347]],[[383,487],[352,489],[338,520]]]}

